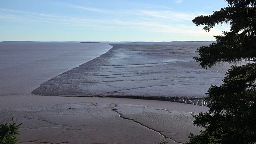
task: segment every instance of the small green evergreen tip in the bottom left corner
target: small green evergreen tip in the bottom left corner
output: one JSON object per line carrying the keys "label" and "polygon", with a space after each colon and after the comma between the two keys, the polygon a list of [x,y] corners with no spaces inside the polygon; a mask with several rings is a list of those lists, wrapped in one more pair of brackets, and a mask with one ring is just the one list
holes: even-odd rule
{"label": "small green evergreen tip in the bottom left corner", "polygon": [[0,125],[0,144],[16,144],[19,140],[16,134],[19,135],[18,130],[21,124],[16,125],[13,118],[12,123],[7,124]]}

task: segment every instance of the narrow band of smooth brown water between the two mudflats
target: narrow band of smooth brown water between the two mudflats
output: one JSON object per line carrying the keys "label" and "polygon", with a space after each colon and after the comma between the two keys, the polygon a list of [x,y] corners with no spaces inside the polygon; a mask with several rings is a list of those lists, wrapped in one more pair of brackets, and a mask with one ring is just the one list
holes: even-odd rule
{"label": "narrow band of smooth brown water between the two mudflats", "polygon": [[193,104],[184,104],[178,102],[168,102],[159,100],[141,100],[131,98],[99,98],[99,97],[61,97],[61,96],[36,96],[15,95],[15,96],[0,96],[0,110],[8,110],[13,108],[23,108],[30,106],[48,106],[54,104],[72,104],[80,102],[94,103],[114,103],[114,104],[135,104],[152,106],[157,108],[168,108],[183,112],[206,112],[206,106],[197,106]]}

